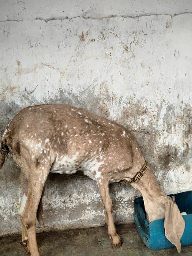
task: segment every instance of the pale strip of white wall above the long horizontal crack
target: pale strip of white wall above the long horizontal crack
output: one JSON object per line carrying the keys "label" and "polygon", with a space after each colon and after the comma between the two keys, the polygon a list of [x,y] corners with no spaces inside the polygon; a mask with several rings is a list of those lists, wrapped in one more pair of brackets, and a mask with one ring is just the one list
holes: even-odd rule
{"label": "pale strip of white wall above the long horizontal crack", "polygon": [[103,18],[114,16],[175,15],[190,13],[190,0],[1,0],[2,21],[62,19],[65,17]]}

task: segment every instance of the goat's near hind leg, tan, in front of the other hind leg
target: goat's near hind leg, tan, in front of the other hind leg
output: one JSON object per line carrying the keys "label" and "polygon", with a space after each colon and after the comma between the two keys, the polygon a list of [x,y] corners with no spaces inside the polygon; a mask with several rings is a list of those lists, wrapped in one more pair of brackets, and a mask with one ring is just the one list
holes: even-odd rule
{"label": "goat's near hind leg, tan, in front of the other hind leg", "polygon": [[45,168],[35,169],[30,172],[30,176],[28,178],[27,199],[24,210],[20,215],[21,221],[23,222],[27,230],[28,245],[32,256],[40,256],[36,240],[35,225],[37,209],[48,173],[49,170],[45,171]]}

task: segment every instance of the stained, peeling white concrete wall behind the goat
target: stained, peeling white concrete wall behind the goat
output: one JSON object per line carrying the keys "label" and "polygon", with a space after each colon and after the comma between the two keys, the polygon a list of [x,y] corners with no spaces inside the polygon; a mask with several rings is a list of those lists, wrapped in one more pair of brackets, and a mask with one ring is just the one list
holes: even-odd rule
{"label": "stained, peeling white concrete wall behind the goat", "polygon": [[[129,128],[166,193],[192,188],[191,1],[1,1],[0,136],[23,107],[69,103]],[[112,184],[116,223],[139,192]],[[20,232],[20,171],[0,172],[0,235]],[[37,231],[104,224],[96,182],[51,174]]]}

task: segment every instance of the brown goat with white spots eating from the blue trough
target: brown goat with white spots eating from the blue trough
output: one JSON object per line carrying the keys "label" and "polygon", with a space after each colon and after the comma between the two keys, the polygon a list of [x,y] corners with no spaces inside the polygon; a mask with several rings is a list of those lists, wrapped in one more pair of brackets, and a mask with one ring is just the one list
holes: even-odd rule
{"label": "brown goat with white spots eating from the blue trough", "polygon": [[[49,172],[73,174],[82,170],[96,180],[112,246],[121,246],[108,184],[132,179],[145,163],[136,139],[122,125],[69,105],[31,106],[8,124],[1,139],[0,168],[9,152],[21,169],[23,191],[16,205],[26,253],[40,255],[35,225],[36,217],[41,219]],[[165,235],[180,252],[185,221],[177,205],[161,190],[150,167],[131,185],[143,195],[149,222],[165,218]]]}

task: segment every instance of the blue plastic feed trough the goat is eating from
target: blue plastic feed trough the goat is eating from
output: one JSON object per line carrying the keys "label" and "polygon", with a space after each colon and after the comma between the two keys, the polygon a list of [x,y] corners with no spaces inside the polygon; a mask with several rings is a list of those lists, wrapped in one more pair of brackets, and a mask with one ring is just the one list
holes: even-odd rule
{"label": "blue plastic feed trough the goat is eating from", "polygon": [[[181,246],[192,245],[192,191],[172,195],[175,196],[175,202],[180,212],[187,213],[187,215],[183,215],[185,230],[181,237]],[[148,224],[142,197],[136,198],[134,201],[134,220],[141,239],[149,249],[161,250],[175,247],[165,237],[165,219],[154,220]]]}

